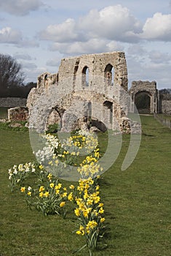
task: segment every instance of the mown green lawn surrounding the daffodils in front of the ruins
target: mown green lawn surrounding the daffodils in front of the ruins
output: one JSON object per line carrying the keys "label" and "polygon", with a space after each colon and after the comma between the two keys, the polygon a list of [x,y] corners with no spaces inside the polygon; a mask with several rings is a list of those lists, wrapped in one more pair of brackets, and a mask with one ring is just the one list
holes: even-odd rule
{"label": "mown green lawn surrounding the daffodils in front of the ruins", "polygon": [[[95,256],[170,255],[171,132],[152,116],[141,120],[143,136],[135,161],[121,171],[130,141],[124,135],[118,159],[100,179],[108,247]],[[27,208],[20,192],[9,190],[8,168],[34,159],[28,132],[1,129],[0,140],[0,255],[72,255],[84,244],[83,237],[72,233],[76,229],[72,207],[66,219],[44,217]],[[106,148],[106,135],[100,135],[100,148],[102,152]],[[89,254],[85,249],[77,255]]]}

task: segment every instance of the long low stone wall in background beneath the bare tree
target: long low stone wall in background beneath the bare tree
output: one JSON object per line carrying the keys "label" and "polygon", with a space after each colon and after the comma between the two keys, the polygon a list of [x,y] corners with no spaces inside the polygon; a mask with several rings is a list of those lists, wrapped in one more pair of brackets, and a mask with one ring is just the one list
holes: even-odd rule
{"label": "long low stone wall in background beneath the bare tree", "polygon": [[6,108],[25,107],[26,102],[27,102],[27,99],[24,99],[24,98],[15,98],[15,97],[0,98],[0,107],[6,107]]}

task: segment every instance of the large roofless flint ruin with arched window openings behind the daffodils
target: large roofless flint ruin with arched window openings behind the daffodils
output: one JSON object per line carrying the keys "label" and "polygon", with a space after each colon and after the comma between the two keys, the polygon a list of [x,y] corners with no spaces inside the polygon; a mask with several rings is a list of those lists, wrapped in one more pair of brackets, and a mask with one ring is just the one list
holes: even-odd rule
{"label": "large roofless flint ruin with arched window openings behind the daffodils", "polygon": [[29,127],[44,131],[57,123],[63,132],[96,127],[129,133],[127,84],[124,52],[62,59],[58,72],[40,75],[28,95]]}

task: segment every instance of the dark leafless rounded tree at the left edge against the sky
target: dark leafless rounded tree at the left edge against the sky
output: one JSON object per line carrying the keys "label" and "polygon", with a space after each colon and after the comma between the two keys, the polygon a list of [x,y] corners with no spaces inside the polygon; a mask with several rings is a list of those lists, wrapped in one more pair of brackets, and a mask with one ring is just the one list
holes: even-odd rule
{"label": "dark leafless rounded tree at the left edge against the sky", "polygon": [[0,53],[0,97],[7,97],[10,90],[23,86],[21,65],[12,56]]}

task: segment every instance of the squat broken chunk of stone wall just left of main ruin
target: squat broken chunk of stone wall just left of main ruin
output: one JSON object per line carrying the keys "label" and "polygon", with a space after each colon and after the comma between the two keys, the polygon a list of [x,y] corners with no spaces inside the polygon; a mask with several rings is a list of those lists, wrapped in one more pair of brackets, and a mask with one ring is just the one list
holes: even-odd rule
{"label": "squat broken chunk of stone wall just left of main ruin", "polygon": [[8,120],[9,121],[27,121],[28,108],[25,108],[25,107],[9,108]]}

